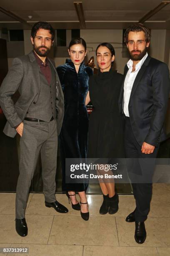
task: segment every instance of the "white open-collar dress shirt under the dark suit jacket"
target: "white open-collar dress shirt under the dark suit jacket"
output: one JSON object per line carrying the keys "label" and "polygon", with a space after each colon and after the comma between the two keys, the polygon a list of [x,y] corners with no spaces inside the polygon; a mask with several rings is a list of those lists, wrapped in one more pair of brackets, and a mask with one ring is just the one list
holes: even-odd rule
{"label": "white open-collar dress shirt under the dark suit jacket", "polygon": [[124,95],[123,95],[123,102],[124,102],[123,111],[125,113],[125,116],[129,117],[128,105],[129,105],[129,99],[130,99],[133,83],[147,56],[148,56],[148,53],[146,53],[145,56],[138,62],[138,64],[136,64],[135,71],[133,72],[132,72],[133,61],[130,59],[127,63],[129,70],[125,77]]}

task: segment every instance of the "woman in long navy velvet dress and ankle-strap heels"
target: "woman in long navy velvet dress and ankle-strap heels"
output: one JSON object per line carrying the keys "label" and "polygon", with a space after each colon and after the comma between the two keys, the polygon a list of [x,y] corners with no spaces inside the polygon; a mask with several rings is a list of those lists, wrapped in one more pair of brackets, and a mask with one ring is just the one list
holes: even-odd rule
{"label": "woman in long navy velvet dress and ankle-strap heels", "polygon": [[[89,212],[85,195],[86,184],[71,184],[65,182],[65,159],[87,157],[88,115],[85,98],[88,92],[88,81],[93,74],[90,67],[86,67],[86,43],[82,38],[70,41],[68,53],[70,59],[57,67],[57,72],[64,94],[65,113],[59,137],[60,155],[62,163],[62,190],[71,200],[74,210],[81,210],[81,216],[88,220]],[[80,196],[80,204],[75,192]],[[70,202],[70,201],[69,201]]]}

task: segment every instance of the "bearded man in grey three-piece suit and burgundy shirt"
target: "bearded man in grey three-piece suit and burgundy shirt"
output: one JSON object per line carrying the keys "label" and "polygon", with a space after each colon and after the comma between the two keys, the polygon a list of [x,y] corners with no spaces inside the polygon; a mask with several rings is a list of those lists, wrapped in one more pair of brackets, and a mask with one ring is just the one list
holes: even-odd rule
{"label": "bearded man in grey three-piece suit and burgundy shirt", "polygon": [[[31,180],[41,154],[45,206],[57,212],[68,212],[56,201],[57,136],[63,119],[63,94],[55,64],[47,58],[54,41],[54,29],[47,22],[32,27],[30,54],[15,58],[0,87],[0,105],[7,118],[4,133],[20,135],[20,175],[16,189],[15,227],[27,236],[25,209]],[[11,96],[20,92],[14,105]]]}

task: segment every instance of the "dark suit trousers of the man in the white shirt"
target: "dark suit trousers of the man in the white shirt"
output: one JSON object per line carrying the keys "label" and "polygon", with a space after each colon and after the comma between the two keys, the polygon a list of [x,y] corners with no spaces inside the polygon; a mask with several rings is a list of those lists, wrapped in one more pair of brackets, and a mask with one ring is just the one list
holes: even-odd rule
{"label": "dark suit trousers of the man in the white shirt", "polygon": [[133,186],[136,201],[135,221],[145,221],[150,211],[152,199],[152,177],[155,169],[155,159],[158,147],[152,154],[143,154],[141,146],[136,141],[130,124],[130,118],[125,118],[125,155],[127,169]]}

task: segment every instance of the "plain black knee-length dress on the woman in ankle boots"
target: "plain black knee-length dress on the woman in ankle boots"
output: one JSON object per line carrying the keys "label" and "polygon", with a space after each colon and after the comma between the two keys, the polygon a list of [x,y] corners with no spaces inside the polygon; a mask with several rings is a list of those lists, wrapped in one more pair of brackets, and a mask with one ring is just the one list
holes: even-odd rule
{"label": "plain black knee-length dress on the woman in ankle boots", "polygon": [[90,77],[88,158],[124,158],[123,120],[118,99],[123,75],[110,69]]}

